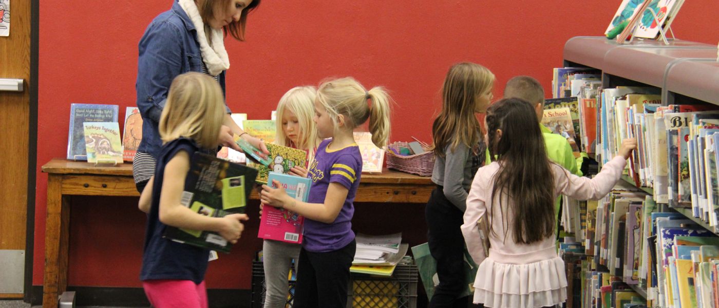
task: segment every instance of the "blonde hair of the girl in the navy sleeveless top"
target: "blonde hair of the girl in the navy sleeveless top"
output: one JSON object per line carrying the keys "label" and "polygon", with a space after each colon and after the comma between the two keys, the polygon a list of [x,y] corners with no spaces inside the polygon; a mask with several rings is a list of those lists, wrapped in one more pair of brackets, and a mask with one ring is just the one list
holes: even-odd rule
{"label": "blonde hair of the girl in the navy sleeveless top", "polygon": [[217,136],[225,116],[222,89],[203,73],[184,73],[173,80],[160,116],[163,143],[180,137],[193,139],[205,149],[219,144]]}

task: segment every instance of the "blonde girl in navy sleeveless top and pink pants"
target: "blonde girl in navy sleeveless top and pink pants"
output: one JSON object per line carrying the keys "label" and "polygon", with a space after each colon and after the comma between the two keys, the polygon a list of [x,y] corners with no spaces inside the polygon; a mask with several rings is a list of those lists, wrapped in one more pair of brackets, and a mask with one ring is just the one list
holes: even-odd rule
{"label": "blonde girl in navy sleeveless top and pink pants", "polygon": [[185,73],[173,80],[160,116],[163,144],[155,175],[139,199],[139,209],[148,214],[140,280],[153,307],[207,307],[209,251],[162,238],[166,226],[215,231],[231,243],[244,229],[247,215],[211,218],[180,204],[190,157],[219,144],[224,115],[222,90],[211,77]]}

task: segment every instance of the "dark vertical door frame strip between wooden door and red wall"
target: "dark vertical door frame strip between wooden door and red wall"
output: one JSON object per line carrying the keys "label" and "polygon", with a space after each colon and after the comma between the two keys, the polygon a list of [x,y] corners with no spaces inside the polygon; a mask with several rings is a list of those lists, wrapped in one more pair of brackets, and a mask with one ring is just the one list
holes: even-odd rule
{"label": "dark vertical door frame strip between wooden door and red wall", "polygon": [[29,131],[27,143],[27,221],[25,230],[24,302],[32,299],[32,267],[35,263],[35,187],[37,182],[37,70],[40,45],[40,0],[30,0]]}

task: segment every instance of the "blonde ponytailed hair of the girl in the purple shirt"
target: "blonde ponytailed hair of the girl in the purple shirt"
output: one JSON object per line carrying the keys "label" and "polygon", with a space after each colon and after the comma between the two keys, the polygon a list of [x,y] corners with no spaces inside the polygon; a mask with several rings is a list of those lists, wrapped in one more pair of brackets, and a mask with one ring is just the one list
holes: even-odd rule
{"label": "blonde ponytailed hair of the girl in the purple shirt", "polygon": [[365,90],[352,77],[325,81],[317,89],[317,100],[326,108],[335,128],[340,114],[349,129],[362,125],[369,118],[372,143],[382,149],[390,136],[390,99],[385,88]]}

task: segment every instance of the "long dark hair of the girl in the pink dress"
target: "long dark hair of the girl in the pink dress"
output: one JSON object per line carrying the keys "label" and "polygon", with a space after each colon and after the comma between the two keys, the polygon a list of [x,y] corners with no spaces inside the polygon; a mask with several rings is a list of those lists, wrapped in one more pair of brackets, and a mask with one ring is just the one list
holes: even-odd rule
{"label": "long dark hair of the girl in the pink dress", "polygon": [[[501,166],[493,179],[492,200],[499,194],[502,216],[508,221],[508,213],[514,215],[511,227],[505,223],[507,230],[512,228],[514,241],[524,244],[553,235],[554,175],[533,106],[521,98],[505,98],[487,109],[486,121],[490,157],[496,155]],[[503,195],[508,196],[507,207],[501,203]]]}

